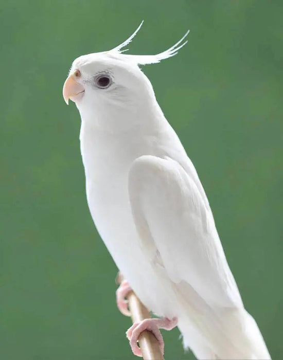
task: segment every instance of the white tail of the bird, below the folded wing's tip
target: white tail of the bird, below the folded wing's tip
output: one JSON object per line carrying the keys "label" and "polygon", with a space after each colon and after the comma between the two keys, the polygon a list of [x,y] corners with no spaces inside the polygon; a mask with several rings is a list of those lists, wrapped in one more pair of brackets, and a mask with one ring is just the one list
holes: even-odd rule
{"label": "white tail of the bird, below the folded wing's tip", "polygon": [[211,309],[205,318],[195,313],[194,323],[188,318],[191,314],[179,317],[178,327],[184,346],[200,359],[271,359],[257,323],[244,308]]}

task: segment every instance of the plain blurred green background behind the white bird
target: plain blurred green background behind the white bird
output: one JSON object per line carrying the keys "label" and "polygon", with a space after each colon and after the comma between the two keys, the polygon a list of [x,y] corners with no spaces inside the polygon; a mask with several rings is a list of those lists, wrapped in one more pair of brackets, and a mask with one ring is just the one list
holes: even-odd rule
{"label": "plain blurred green background behind the white bird", "polygon": [[[80,118],[62,85],[76,57],[132,53],[189,28],[144,67],[196,166],[247,310],[282,358],[282,1],[1,2],[1,360],[133,359],[117,269],[87,209]],[[167,359],[184,354],[164,332]]]}

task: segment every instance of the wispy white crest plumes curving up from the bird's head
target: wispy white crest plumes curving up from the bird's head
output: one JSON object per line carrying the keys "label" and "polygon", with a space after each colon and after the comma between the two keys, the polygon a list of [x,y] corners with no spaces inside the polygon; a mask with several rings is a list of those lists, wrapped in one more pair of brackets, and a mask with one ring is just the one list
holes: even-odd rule
{"label": "wispy white crest plumes curving up from the bird's head", "polygon": [[[114,47],[114,49],[110,50],[111,52],[118,52],[119,54],[121,54],[121,52],[123,51],[127,51],[126,50],[121,50],[123,47],[127,46],[135,37],[135,35],[137,34],[137,32],[139,31],[139,29],[141,28],[141,26],[143,25],[144,21],[142,21],[139,25],[139,27],[135,30],[135,32],[130,36],[130,38],[128,38],[126,41],[124,41],[122,44]],[[124,55],[123,57],[127,57],[128,60],[133,61],[139,65],[147,65],[147,64],[156,64],[159,63],[161,60],[164,59],[168,59],[171,58],[172,56],[176,55],[178,53],[178,50],[180,50],[184,45],[186,45],[186,43],[188,42],[187,40],[184,41],[184,39],[187,37],[188,33],[190,32],[190,30],[188,30],[185,35],[183,36],[182,39],[180,39],[176,44],[174,44],[173,46],[171,46],[169,49],[157,53],[155,55]],[[184,41],[184,42],[183,42]],[[180,45],[181,44],[181,45]]]}

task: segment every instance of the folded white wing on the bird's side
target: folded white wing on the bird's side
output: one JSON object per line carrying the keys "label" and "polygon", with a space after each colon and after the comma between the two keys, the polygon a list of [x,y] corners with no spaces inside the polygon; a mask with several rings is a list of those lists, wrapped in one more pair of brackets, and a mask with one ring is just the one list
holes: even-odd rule
{"label": "folded white wing on the bird's side", "polygon": [[142,248],[173,282],[185,281],[210,305],[242,306],[207,199],[179,163],[139,157],[129,195]]}

